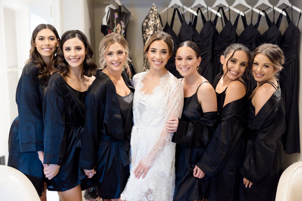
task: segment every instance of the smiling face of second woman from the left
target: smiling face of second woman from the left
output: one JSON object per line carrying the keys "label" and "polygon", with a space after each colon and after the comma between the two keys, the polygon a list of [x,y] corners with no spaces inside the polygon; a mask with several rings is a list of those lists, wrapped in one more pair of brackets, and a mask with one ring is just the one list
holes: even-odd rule
{"label": "smiling face of second woman from the left", "polygon": [[63,44],[63,54],[69,68],[82,67],[86,53],[84,43],[78,38],[68,39]]}

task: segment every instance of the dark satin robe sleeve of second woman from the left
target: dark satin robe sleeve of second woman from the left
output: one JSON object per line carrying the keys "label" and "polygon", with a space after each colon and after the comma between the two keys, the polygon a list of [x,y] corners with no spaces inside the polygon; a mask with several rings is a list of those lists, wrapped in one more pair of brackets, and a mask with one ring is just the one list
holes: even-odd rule
{"label": "dark satin robe sleeve of second woman from the left", "polygon": [[52,78],[45,88],[43,101],[44,164],[62,165],[66,152],[65,107],[59,87]]}

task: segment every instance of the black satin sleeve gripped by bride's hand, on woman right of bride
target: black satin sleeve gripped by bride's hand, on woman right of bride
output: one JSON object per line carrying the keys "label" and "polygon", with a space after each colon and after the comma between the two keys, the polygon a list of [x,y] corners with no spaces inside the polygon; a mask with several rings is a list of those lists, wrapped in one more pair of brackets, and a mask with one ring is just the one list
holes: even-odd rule
{"label": "black satin sleeve gripped by bride's hand, on woman right of bride", "polygon": [[205,112],[195,122],[178,119],[178,128],[173,134],[172,142],[191,147],[205,147],[209,143],[218,121],[218,112]]}

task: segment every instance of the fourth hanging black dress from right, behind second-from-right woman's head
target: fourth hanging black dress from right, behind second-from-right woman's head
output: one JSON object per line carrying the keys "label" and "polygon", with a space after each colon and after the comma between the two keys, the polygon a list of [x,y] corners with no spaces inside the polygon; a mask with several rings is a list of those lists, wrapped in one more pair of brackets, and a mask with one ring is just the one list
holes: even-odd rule
{"label": "fourth hanging black dress from right, behind second-from-right woman's head", "polygon": [[[220,63],[220,56],[223,55],[224,50],[229,45],[236,43],[238,35],[236,33],[237,24],[239,21],[239,15],[237,15],[234,24],[232,24],[230,20],[230,10],[229,10],[229,20],[224,13],[223,8],[221,7],[221,11],[223,14],[223,19],[225,22],[225,26],[221,30],[219,34],[217,34],[217,39],[214,43],[214,50],[213,50],[213,76],[216,77],[222,71],[222,64]],[[222,20],[222,19],[221,19]],[[214,25],[216,26],[216,21],[214,20]],[[213,79],[214,79],[213,77]]]}

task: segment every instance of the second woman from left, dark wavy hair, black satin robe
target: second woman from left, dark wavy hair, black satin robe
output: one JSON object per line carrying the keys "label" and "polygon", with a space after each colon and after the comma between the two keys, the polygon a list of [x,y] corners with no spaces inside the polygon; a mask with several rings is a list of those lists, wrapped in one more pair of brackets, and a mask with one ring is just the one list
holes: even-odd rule
{"label": "second woman from left, dark wavy hair, black satin robe", "polygon": [[[44,168],[47,189],[61,200],[82,200],[81,190],[92,186],[79,169],[79,148],[85,121],[85,96],[95,79],[93,50],[84,33],[66,31],[58,48],[43,101]],[[81,186],[80,186],[81,184]],[[81,189],[82,187],[82,189]]]}

